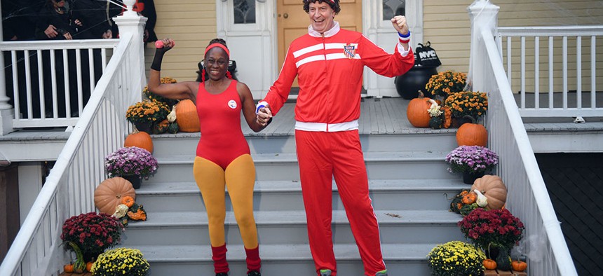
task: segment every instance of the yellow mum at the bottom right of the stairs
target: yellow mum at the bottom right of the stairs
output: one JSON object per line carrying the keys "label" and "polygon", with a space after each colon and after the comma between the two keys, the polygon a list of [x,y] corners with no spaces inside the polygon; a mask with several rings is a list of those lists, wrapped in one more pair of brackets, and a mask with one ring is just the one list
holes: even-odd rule
{"label": "yellow mum at the bottom right of the stairs", "polygon": [[466,242],[452,241],[438,244],[427,255],[432,275],[469,276],[484,272],[484,252]]}

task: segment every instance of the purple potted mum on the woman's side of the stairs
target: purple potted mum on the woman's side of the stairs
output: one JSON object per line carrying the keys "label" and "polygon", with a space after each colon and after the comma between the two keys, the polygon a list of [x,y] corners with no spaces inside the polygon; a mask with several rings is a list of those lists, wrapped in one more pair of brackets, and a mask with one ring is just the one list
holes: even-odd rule
{"label": "purple potted mum on the woman's side of the stairs", "polygon": [[134,188],[140,188],[141,180],[152,177],[158,167],[157,159],[137,146],[118,149],[104,158],[107,175],[128,179]]}

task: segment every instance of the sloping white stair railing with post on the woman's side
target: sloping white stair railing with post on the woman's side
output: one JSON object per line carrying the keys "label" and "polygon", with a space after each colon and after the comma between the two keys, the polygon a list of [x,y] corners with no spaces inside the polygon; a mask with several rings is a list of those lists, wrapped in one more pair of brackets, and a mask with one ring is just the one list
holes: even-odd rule
{"label": "sloping white stair railing with post on the woman's side", "polygon": [[94,189],[105,179],[104,156],[123,145],[130,130],[126,109],[140,101],[144,85],[146,18],[125,13],[116,22],[121,39],[115,53],[0,265],[0,275],[59,275],[67,262],[60,247],[62,223],[94,210]]}

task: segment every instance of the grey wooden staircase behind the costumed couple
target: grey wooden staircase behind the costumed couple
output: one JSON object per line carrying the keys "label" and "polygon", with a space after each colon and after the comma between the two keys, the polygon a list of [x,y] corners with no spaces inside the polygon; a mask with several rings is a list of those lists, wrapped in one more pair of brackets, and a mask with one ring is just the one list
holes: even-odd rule
{"label": "grey wooden staircase behind the costumed couple", "polygon": [[[254,211],[262,275],[268,276],[315,275],[290,123],[275,120],[272,130],[245,133],[257,171]],[[458,175],[447,172],[444,161],[456,147],[455,132],[421,129],[371,134],[372,126],[366,125],[364,131],[360,123],[370,193],[389,274],[430,275],[428,252],[436,244],[463,240],[456,226],[461,216],[448,211],[447,198],[468,185],[462,184]],[[153,275],[213,275],[207,216],[192,174],[198,138],[198,133],[156,135],[154,156],[160,169],[136,191],[136,201],[144,205],[148,220],[130,223],[122,246],[142,250]],[[363,275],[363,264],[335,185],[332,196],[338,273]],[[245,275],[245,251],[228,197],[226,209],[230,275]]]}

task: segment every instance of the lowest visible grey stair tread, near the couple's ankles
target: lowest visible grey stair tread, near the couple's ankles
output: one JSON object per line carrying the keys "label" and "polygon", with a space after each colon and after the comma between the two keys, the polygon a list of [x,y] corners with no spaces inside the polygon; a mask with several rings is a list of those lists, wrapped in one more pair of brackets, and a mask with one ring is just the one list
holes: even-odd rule
{"label": "lowest visible grey stair tread, near the couple's ankles", "polygon": [[[437,244],[381,244],[385,261],[425,261],[426,256]],[[144,258],[150,262],[210,262],[209,245],[152,246],[140,245]],[[356,244],[334,244],[334,253],[338,261],[360,260]],[[259,255],[262,261],[310,261],[308,244],[260,244]],[[242,246],[228,247],[229,261],[245,260]]]}

